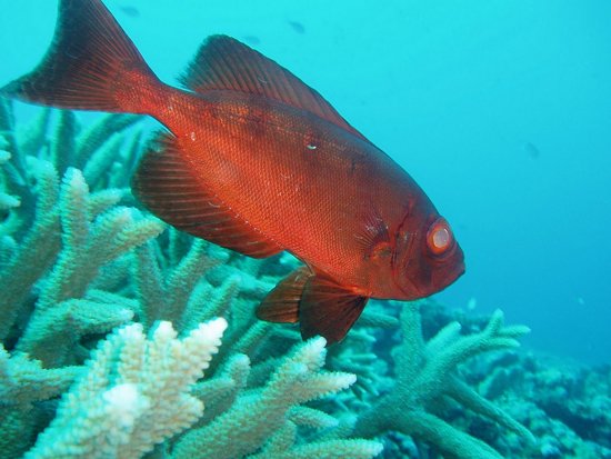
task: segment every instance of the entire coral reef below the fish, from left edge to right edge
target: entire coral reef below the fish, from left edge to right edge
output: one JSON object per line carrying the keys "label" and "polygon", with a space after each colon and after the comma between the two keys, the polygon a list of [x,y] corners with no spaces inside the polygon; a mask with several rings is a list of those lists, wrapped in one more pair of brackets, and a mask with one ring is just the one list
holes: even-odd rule
{"label": "entire coral reef below the fish, from left edge to right edge", "polygon": [[297,260],[139,208],[141,124],[0,101],[0,458],[604,457],[609,369],[554,373],[500,311],[372,301],[330,348],[258,321]]}

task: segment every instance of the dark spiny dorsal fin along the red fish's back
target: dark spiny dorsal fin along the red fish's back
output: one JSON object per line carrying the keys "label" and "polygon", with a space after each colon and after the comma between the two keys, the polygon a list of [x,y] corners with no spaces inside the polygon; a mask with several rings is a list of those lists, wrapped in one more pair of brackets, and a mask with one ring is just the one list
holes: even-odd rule
{"label": "dark spiny dorsal fin along the red fish's back", "polygon": [[192,91],[232,90],[307,110],[368,141],[324,98],[290,71],[227,36],[209,37],[180,82]]}

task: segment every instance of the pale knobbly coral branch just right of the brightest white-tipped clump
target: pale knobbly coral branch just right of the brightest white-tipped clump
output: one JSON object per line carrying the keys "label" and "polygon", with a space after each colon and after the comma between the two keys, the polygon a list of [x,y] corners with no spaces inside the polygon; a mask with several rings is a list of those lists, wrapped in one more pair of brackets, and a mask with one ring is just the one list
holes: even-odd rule
{"label": "pale knobbly coral branch just right of the brightest white-tipped clump", "polygon": [[266,458],[372,458],[380,453],[380,443],[361,439],[296,445],[298,425],[329,428],[337,423],[332,417],[301,403],[337,393],[357,380],[351,373],[322,369],[325,343],[319,337],[294,346],[263,388],[240,395],[210,423],[184,433],[172,458],[233,459],[251,453]]}

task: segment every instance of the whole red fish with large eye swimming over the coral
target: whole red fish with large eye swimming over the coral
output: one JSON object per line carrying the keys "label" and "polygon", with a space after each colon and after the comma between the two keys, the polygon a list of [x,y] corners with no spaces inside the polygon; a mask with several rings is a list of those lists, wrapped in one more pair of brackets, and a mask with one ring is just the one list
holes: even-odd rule
{"label": "whole red fish with large eye swimming over the coral", "polygon": [[462,275],[450,226],[414,180],[287,69],[213,36],[180,82],[154,76],[100,0],[61,0],[43,60],[1,92],[159,120],[167,131],[141,160],[134,193],[196,237],[303,261],[257,315],[299,321],[304,338],[339,341],[369,298],[413,300]]}

